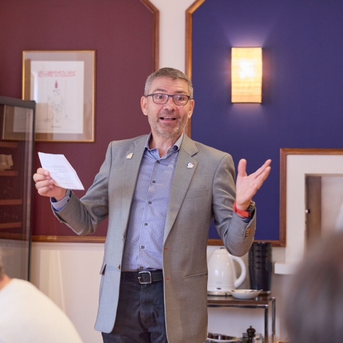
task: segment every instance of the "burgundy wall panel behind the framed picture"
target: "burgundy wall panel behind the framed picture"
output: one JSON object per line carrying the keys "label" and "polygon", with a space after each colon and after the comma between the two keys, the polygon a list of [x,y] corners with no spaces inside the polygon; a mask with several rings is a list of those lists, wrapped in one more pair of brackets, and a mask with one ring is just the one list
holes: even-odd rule
{"label": "burgundy wall panel behind the framed picture", "polygon": [[[23,50],[96,49],[95,143],[36,143],[36,152],[64,154],[85,189],[110,141],[150,132],[140,98],[152,72],[152,19],[139,0],[0,0],[0,95],[21,98]],[[33,227],[74,235],[36,192]],[[95,235],[106,235],[106,223]]]}

